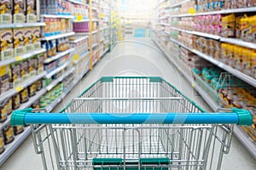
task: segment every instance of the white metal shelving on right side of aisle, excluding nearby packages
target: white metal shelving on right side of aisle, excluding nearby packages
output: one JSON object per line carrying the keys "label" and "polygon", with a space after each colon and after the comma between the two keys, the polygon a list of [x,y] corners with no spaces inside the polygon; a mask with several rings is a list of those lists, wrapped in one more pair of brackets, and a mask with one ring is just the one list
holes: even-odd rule
{"label": "white metal shelving on right side of aisle, excluding nearby packages", "polygon": [[[182,63],[181,59],[177,59],[177,54],[172,54],[169,50],[166,50],[166,48],[169,48],[170,45],[166,45],[169,42],[172,42],[174,44],[177,44],[179,48],[184,48],[189,53],[195,54],[201,59],[207,60],[209,64],[216,65],[218,68],[222,69],[223,71],[226,71],[230,73],[231,75],[239,78],[241,81],[247,83],[253,88],[256,88],[256,78],[248,76],[242,71],[236,70],[236,68],[233,68],[230,65],[225,64],[224,62],[213,58],[209,54],[202,53],[198,49],[191,48],[190,46],[185,45],[183,42],[180,42],[177,37],[174,38],[173,32],[177,32],[175,35],[180,35],[181,33],[186,33],[189,35],[195,35],[199,37],[205,37],[207,39],[212,39],[214,41],[217,41],[219,43],[221,42],[227,42],[230,44],[234,44],[243,48],[250,48],[250,49],[256,49],[256,43],[255,42],[245,42],[239,38],[232,38],[232,37],[222,37],[219,35],[213,35],[206,32],[201,31],[193,31],[193,28],[188,28],[189,30],[180,29],[177,26],[172,26],[171,23],[172,20],[179,21],[182,18],[187,17],[195,17],[195,16],[201,16],[201,15],[212,15],[212,14],[255,14],[256,7],[250,7],[250,8],[231,8],[231,9],[222,9],[222,10],[216,10],[211,12],[203,12],[198,13],[196,12],[195,8],[190,8],[188,13],[190,14],[168,14],[166,11],[168,9],[172,8],[182,8],[182,5],[184,3],[190,3],[192,0],[184,0],[184,1],[178,1],[178,3],[171,4],[172,2],[167,1],[160,1],[155,9],[155,18],[154,18],[154,37],[156,40],[154,42],[157,44],[157,46],[161,49],[161,51],[166,54],[166,58],[169,59],[173,65],[177,67],[177,70],[180,71],[183,76],[191,83],[191,86],[195,88],[195,90],[201,94],[201,97],[207,101],[207,104],[212,108],[213,111],[216,111],[221,105],[219,105],[214,99],[212,99],[212,96],[210,94],[207,94],[207,91],[201,87],[201,85],[196,82],[196,79],[194,80],[194,76],[191,74],[189,75],[188,72],[192,71],[185,71],[188,70],[188,65],[184,65]],[[194,11],[193,11],[194,10]],[[163,21],[164,20],[164,21]],[[176,25],[176,24],[174,24]],[[179,49],[181,50],[181,49]],[[255,113],[254,113],[255,114]],[[234,128],[234,133],[241,141],[241,144],[244,144],[247,150],[256,158],[256,145],[253,143],[253,139],[251,139],[247,133],[245,133],[243,130],[241,130],[241,127]]]}

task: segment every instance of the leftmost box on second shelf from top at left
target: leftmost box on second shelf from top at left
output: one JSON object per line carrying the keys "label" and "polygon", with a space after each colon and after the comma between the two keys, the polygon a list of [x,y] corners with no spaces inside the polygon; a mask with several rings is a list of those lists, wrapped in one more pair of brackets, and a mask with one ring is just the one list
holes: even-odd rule
{"label": "leftmost box on second shelf from top at left", "polygon": [[11,29],[0,29],[1,60],[13,57],[13,48],[13,31]]}

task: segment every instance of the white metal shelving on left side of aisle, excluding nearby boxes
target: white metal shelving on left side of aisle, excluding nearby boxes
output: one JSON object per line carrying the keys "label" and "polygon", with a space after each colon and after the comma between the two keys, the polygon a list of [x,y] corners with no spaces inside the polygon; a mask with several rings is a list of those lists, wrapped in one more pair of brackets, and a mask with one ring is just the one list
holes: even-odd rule
{"label": "white metal shelving on left side of aisle, excluding nearby boxes", "polygon": [[[65,33],[56,32],[51,33],[49,35],[52,36],[43,36],[39,39],[41,42],[49,42],[52,40],[60,39],[60,38],[68,38],[69,43],[71,45],[71,48],[68,48],[66,51],[57,53],[55,56],[52,56],[50,58],[44,59],[44,65],[48,65],[55,60],[61,59],[64,56],[67,56],[69,54],[69,59],[66,63],[63,65],[58,66],[55,68],[54,71],[50,72],[41,72],[35,77],[31,77],[26,82],[21,83],[18,87],[9,89],[8,92],[0,95],[0,101],[2,102],[4,99],[8,99],[11,96],[14,96],[15,94],[18,94],[22,89],[27,88],[28,86],[32,85],[34,82],[37,82],[38,80],[42,80],[44,78],[51,78],[55,76],[57,73],[60,73],[60,71],[63,71],[61,77],[56,78],[51,83],[49,83],[48,86],[42,88],[40,91],[38,91],[34,96],[30,97],[29,100],[20,105],[19,109],[25,109],[27,107],[30,107],[34,104],[34,102],[38,99],[40,99],[44,94],[47,94],[50,90],[55,88],[56,85],[59,83],[62,83],[67,77],[70,75],[74,75],[74,79],[72,82],[67,84],[67,88],[65,91],[62,91],[61,96],[59,96],[57,99],[55,99],[54,102],[52,102],[50,105],[46,107],[47,111],[52,111],[59,102],[61,102],[62,99],[64,99],[67,94],[73,89],[73,87],[84,77],[84,75],[92,69],[92,64],[96,64],[97,61],[99,61],[109,50],[110,46],[110,3],[108,0],[99,0],[97,1],[97,6],[93,6],[93,3],[96,3],[96,1],[88,1],[88,4],[81,3],[76,0],[67,0],[67,2],[73,3],[75,5],[82,5],[85,8],[88,9],[88,16],[79,16],[79,15],[73,15],[73,14],[43,14],[38,13],[38,20],[44,20],[44,19],[66,19],[69,20],[71,23],[83,23],[87,22],[90,27],[90,31],[83,32],[83,33],[77,33],[74,31],[61,31]],[[85,1],[82,1],[85,2]],[[39,5],[38,5],[39,7]],[[42,8],[42,7],[41,7]],[[112,8],[113,9],[113,8]],[[38,9],[39,10],[39,9]],[[92,13],[97,13],[96,17],[93,16]],[[92,30],[92,26],[95,25],[96,29]],[[41,27],[44,29],[46,27],[46,24],[44,22],[37,22],[37,23],[17,23],[17,24],[0,24],[0,29],[15,29],[15,28],[23,28],[23,27]],[[96,42],[92,42],[91,38],[92,36],[96,36]],[[84,42],[84,40],[89,39],[88,49],[79,56],[80,51],[79,48],[73,48],[76,47],[75,45]],[[97,60],[95,63],[92,63],[92,55],[90,55],[90,51],[92,52],[92,48],[96,48],[97,52]],[[39,48],[36,50],[33,50],[29,53],[14,56],[10,59],[4,59],[0,61],[0,66],[4,65],[10,65],[12,63],[15,63],[17,61],[21,61],[24,59],[30,59],[35,55],[38,54],[46,54],[45,48]],[[82,65],[79,64],[85,64],[83,65],[83,71],[81,73],[77,73],[77,76],[75,76],[75,72],[79,70],[79,68],[82,68]],[[76,66],[79,65],[79,66]],[[90,68],[91,65],[91,68]],[[69,69],[67,69],[67,67]],[[10,121],[10,116],[8,116],[7,120],[5,122],[0,122],[0,130],[7,125]],[[11,144],[5,145],[5,151],[3,154],[0,155],[0,165],[3,164],[3,162],[13,153],[14,150],[26,139],[26,137],[31,133],[30,127],[25,127],[25,131],[23,133],[20,133],[18,136],[15,136],[15,140]]]}

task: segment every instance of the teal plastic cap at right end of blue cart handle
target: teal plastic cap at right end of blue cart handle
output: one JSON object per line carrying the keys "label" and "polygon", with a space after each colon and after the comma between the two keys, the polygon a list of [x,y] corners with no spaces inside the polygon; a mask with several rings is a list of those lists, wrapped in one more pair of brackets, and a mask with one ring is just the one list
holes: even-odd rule
{"label": "teal plastic cap at right end of blue cart handle", "polygon": [[239,122],[238,125],[247,125],[251,126],[253,124],[253,116],[250,111],[242,110],[242,109],[232,109],[238,116]]}

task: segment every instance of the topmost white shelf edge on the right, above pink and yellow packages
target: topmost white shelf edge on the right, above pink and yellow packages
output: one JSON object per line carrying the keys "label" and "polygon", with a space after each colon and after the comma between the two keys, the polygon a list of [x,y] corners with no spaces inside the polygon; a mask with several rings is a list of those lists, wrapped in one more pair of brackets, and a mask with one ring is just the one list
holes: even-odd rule
{"label": "topmost white shelf edge on the right, above pink and yellow packages", "polygon": [[200,16],[200,15],[209,15],[209,14],[236,14],[236,13],[255,13],[256,7],[250,8],[230,8],[230,9],[222,9],[212,12],[205,13],[197,13],[197,14],[177,14],[171,15],[172,18],[181,18],[181,17],[191,17],[191,16]]}

